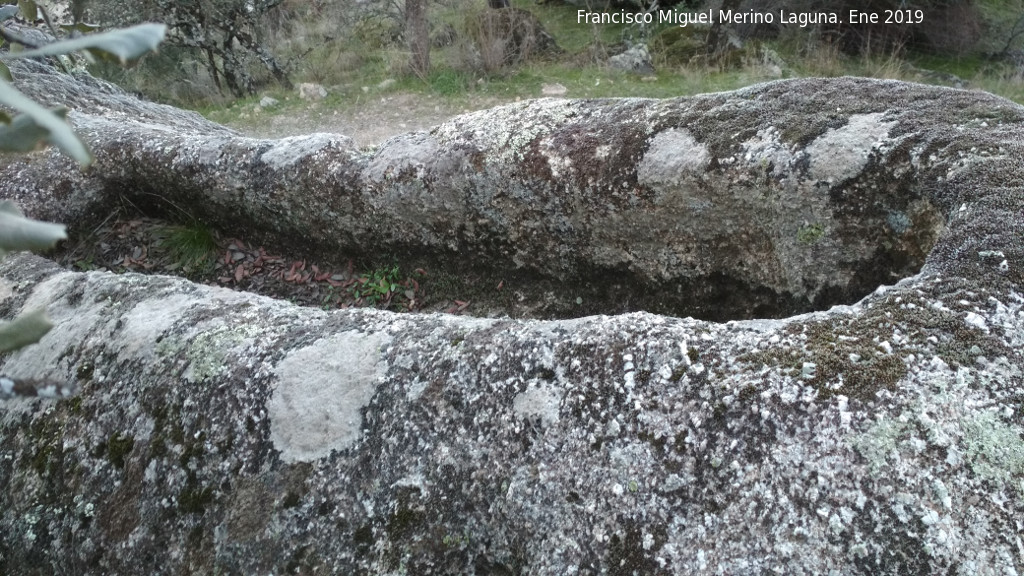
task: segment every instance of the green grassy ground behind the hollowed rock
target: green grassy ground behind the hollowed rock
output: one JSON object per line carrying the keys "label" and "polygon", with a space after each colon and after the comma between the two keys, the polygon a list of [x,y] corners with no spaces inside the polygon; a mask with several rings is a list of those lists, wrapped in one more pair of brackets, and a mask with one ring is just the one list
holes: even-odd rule
{"label": "green grassy ground behind the hollowed rock", "polygon": [[[535,58],[515,68],[479,70],[479,63],[474,63],[469,55],[472,49],[467,46],[466,22],[486,8],[466,0],[440,0],[431,5],[429,17],[433,31],[436,33],[449,27],[457,32],[457,38],[452,45],[431,48],[433,66],[426,78],[408,74],[407,48],[400,40],[389,43],[386,30],[389,25],[386,22],[382,24],[384,20],[377,16],[377,19],[367,20],[369,24],[354,23],[355,28],[350,33],[342,33],[339,27],[326,24],[330,20],[329,14],[299,16],[282,27],[287,29],[287,33],[272,37],[276,44],[271,49],[282,60],[294,58],[292,80],[296,84],[316,82],[328,87],[328,98],[314,105],[326,113],[358,109],[376,101],[381,95],[394,92],[438,96],[461,108],[466,102],[479,102],[480,97],[499,101],[539,97],[545,84],[554,83],[565,86],[568,97],[660,98],[735,89],[778,77],[766,67],[759,66],[762,45],[754,41],[748,42],[738,67],[726,70],[708,68],[688,61],[688,55],[681,55],[689,52],[680,52],[680,45],[673,43],[683,35],[676,27],[655,26],[641,30],[635,26],[589,26],[578,23],[579,7],[570,4],[537,4],[535,0],[512,0],[512,3],[514,7],[536,15],[564,52],[558,56]],[[985,10],[995,9],[990,2],[982,4]],[[356,17],[349,13],[344,15],[347,19],[339,22],[351,24]],[[665,41],[658,44],[658,38]],[[651,46],[657,70],[651,78],[618,73],[604,65],[607,56],[622,49],[627,41],[644,40]],[[967,82],[970,88],[1024,102],[1022,75],[1010,70],[1010,67],[987,61],[977,53],[936,56],[892,52],[850,56],[812,34],[797,30],[765,42],[763,47],[775,51],[785,63],[781,74],[783,78],[851,75],[950,84],[955,79],[947,75],[953,75]],[[146,91],[145,84],[158,82],[162,76],[195,68],[186,64],[184,60],[187,58],[179,52],[181,49],[170,49],[167,55],[174,57],[151,58],[146,66],[141,67],[152,68],[150,72],[132,77],[134,79],[126,76],[117,80],[132,89]],[[382,84],[385,81],[389,82]],[[272,83],[261,89],[258,96],[241,99],[204,96],[204,90],[211,88],[210,83],[201,78],[185,83],[188,85],[173,90],[156,89],[159,93],[171,94],[171,99],[177,98],[174,104],[197,109],[219,123],[255,123],[268,115],[288,115],[310,106],[294,92]],[[273,110],[253,114],[263,95],[271,95],[281,104]]]}

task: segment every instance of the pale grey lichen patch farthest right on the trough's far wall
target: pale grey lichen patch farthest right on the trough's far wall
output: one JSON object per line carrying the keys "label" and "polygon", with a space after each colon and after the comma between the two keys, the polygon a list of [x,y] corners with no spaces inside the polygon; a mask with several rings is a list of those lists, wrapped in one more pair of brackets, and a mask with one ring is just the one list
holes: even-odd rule
{"label": "pale grey lichen patch farthest right on the trough's far wall", "polygon": [[863,171],[871,152],[882,147],[896,122],[884,115],[858,114],[842,128],[826,131],[806,149],[810,157],[807,175],[814,181],[838,183]]}

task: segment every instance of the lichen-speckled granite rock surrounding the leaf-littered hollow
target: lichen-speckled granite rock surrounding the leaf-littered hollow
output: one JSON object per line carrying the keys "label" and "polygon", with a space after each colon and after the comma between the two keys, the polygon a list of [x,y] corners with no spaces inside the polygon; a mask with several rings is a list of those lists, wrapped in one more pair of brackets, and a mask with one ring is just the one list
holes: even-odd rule
{"label": "lichen-speckled granite rock surrounding the leaf-littered hollow", "polygon": [[[57,328],[0,369],[82,392],[0,406],[0,572],[1024,572],[1024,109],[798,80],[537,100],[360,151],[75,86],[102,86],[55,96],[99,163],[9,164],[0,191],[36,215],[87,222],[138,188],[282,237],[315,221],[325,247],[625,271],[753,319],[328,313],[10,257],[0,314]],[[719,282],[873,285],[770,320]]]}

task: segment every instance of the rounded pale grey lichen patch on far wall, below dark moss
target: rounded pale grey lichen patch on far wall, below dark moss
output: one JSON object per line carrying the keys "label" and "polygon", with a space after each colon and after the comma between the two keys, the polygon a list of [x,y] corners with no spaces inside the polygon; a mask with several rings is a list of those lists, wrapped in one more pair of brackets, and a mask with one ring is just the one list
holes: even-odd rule
{"label": "rounded pale grey lichen patch on far wall, below dark moss", "polygon": [[647,186],[678,186],[703,173],[711,163],[708,147],[688,130],[658,132],[637,165],[637,181]]}

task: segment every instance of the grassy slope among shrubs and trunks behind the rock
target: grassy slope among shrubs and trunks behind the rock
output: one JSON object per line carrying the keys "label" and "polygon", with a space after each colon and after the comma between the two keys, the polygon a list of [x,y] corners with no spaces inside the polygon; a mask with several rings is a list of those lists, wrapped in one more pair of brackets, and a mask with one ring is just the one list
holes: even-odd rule
{"label": "grassy slope among shrubs and trunks behind the rock", "polygon": [[[291,2],[259,31],[263,43],[288,63],[295,83],[315,82],[330,91],[325,110],[366,105],[388,93],[421,93],[461,101],[509,100],[542,95],[545,85],[560,84],[569,97],[666,97],[736,88],[776,78],[807,76],[870,76],[953,85],[991,91],[1024,102],[1024,68],[986,51],[1012,45],[1021,2],[979,2],[977,17],[985,36],[970,50],[937,54],[921,46],[899,44],[851,54],[835,38],[814,27],[790,27],[783,32],[743,39],[725,61],[709,64],[699,52],[706,30],[671,25],[590,26],[577,22],[577,6],[513,0],[513,6],[534,14],[554,38],[558,53],[526,54],[503,64],[481,45],[496,42],[481,33],[479,22],[488,11],[483,0],[439,0],[430,5],[432,70],[426,77],[407,72],[410,54],[401,40],[396,5],[375,12],[351,13],[349,3]],[[313,7],[310,7],[313,6]],[[314,9],[315,8],[315,9]],[[965,25],[967,26],[967,25]],[[981,26],[981,25],[979,25]],[[1024,28],[1024,27],[1022,27]],[[630,74],[612,70],[609,55],[630,45],[649,46],[655,72]],[[260,79],[257,93],[237,99],[217,90],[201,60],[181,48],[168,48],[140,69],[124,73],[97,68],[101,75],[147,96],[199,109],[214,119],[230,120],[251,111],[263,95],[282,101],[273,114],[297,106],[291,91],[275,84],[251,64]],[[286,99],[287,98],[287,99]]]}

